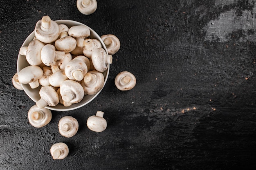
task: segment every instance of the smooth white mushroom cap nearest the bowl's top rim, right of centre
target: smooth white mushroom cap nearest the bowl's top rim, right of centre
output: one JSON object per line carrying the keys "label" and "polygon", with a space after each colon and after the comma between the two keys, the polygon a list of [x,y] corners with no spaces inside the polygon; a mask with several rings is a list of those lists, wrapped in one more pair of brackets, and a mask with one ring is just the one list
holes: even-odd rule
{"label": "smooth white mushroom cap nearest the bowl's top rim, right of centre", "polygon": [[77,37],[89,37],[90,36],[90,29],[88,26],[85,25],[76,25],[71,26],[68,30],[68,35],[77,38]]}

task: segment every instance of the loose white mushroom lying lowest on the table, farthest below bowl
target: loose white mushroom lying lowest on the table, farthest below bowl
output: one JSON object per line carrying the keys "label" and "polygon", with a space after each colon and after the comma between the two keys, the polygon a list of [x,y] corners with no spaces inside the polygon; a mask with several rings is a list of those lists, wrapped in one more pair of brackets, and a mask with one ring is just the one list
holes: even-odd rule
{"label": "loose white mushroom lying lowest on the table, farthest below bowl", "polygon": [[52,147],[50,148],[50,152],[53,159],[64,159],[65,157],[67,157],[69,149],[65,143],[59,142],[52,145]]}

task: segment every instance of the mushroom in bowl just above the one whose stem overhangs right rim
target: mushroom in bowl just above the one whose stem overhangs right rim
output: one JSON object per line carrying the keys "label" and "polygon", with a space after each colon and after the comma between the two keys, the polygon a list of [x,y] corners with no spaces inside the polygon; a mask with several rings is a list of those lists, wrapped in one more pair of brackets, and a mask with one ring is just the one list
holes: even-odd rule
{"label": "mushroom in bowl just above the one whose stem overhangs right rim", "polygon": [[83,44],[83,54],[88,58],[92,56],[92,50],[102,47],[101,42],[95,38],[87,38],[84,40]]}

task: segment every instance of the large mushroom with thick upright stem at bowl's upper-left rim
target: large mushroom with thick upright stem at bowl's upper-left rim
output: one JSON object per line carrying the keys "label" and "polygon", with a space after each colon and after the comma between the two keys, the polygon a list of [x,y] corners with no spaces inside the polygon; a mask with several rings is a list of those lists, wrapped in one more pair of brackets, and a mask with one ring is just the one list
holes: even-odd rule
{"label": "large mushroom with thick upright stem at bowl's upper-left rim", "polygon": [[60,35],[60,29],[58,24],[51,20],[49,16],[43,16],[43,18],[36,23],[35,35],[41,42],[51,43],[57,40]]}

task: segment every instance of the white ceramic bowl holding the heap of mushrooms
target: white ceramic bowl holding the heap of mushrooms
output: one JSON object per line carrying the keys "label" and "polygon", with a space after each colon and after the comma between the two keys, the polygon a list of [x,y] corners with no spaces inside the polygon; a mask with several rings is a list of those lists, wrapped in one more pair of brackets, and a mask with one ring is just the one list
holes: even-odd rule
{"label": "white ceramic bowl holding the heap of mushrooms", "polygon": [[[85,24],[82,24],[80,22],[76,22],[76,21],[72,21],[72,20],[56,20],[55,22],[57,22],[58,24],[65,24],[69,28],[71,26],[75,26],[75,25],[85,25]],[[85,26],[87,26],[87,25],[85,25]],[[90,34],[89,38],[96,38],[96,39],[98,39],[101,42],[101,44],[102,44],[102,48],[105,49],[106,53],[108,54],[106,46],[103,43],[103,41],[101,40],[100,36],[95,31],[93,31],[90,27],[88,27],[88,28],[91,31],[91,34]],[[28,46],[29,42],[31,42],[34,37],[35,37],[35,34],[34,34],[34,31],[33,31],[26,38],[26,40],[24,41],[22,46]],[[17,61],[17,71],[19,72],[22,68],[25,68],[26,66],[29,66],[29,63],[27,62],[26,57],[24,55],[20,55],[19,54],[18,55],[18,61]],[[104,78],[105,78],[104,86],[105,86],[106,81],[108,79],[109,67],[110,67],[110,65],[108,64],[108,69],[103,73]],[[21,84],[21,85],[22,85],[25,93],[27,93],[27,95],[34,102],[37,102],[40,99],[39,91],[40,91],[41,86],[39,86],[38,88],[32,89],[32,88],[30,88],[29,84]],[[100,92],[101,91],[99,91],[95,95],[85,95],[81,102],[76,103],[76,104],[72,104],[71,106],[68,106],[68,107],[63,106],[62,104],[57,104],[56,106],[46,106],[45,108],[48,108],[50,110],[57,110],[57,111],[74,110],[74,109],[80,108],[80,107],[85,106],[86,104],[90,103],[95,97],[97,97],[97,95],[99,95]]]}

